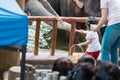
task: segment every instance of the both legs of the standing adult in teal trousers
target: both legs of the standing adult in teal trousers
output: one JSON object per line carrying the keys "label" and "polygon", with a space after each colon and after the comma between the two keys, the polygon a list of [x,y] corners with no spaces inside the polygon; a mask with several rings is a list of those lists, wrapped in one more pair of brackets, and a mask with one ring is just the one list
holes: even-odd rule
{"label": "both legs of the standing adult in teal trousers", "polygon": [[[120,45],[119,40],[119,32],[120,32],[120,24],[115,24],[109,26],[106,31],[109,34],[105,33],[103,44],[102,44],[102,60],[104,61],[111,61],[115,64],[118,63],[118,53],[117,49]],[[108,58],[109,57],[109,58]]]}

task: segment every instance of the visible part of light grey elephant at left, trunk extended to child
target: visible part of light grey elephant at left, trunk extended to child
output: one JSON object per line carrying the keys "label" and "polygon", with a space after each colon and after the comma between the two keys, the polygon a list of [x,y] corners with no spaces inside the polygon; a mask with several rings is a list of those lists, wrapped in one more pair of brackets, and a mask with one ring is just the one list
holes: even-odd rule
{"label": "visible part of light grey elephant at left, trunk extended to child", "polygon": [[[29,0],[25,5],[25,10],[29,11],[33,16],[58,16],[56,11],[54,11],[54,9],[49,5],[48,2],[42,2],[38,0]],[[52,25],[52,22],[46,22],[46,23]],[[64,26],[58,22],[57,27],[59,29],[63,29],[67,31],[71,30],[71,24],[64,21],[63,24]]]}

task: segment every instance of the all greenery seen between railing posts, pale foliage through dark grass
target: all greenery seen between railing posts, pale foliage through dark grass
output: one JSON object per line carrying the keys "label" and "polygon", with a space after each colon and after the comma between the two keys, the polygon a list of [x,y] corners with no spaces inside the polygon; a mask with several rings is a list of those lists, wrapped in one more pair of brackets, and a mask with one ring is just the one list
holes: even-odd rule
{"label": "all greenery seen between railing posts, pale foliage through dark grass", "polygon": [[[29,26],[28,44],[27,44],[28,51],[34,49],[35,30],[36,30],[36,23],[33,22],[33,24]],[[52,27],[44,22],[41,22],[39,48],[49,49],[51,47],[51,38],[52,38]],[[85,35],[80,35],[80,42],[84,40],[85,40]],[[58,29],[56,49],[68,51],[68,48],[69,48],[69,42],[67,41],[66,38],[66,31]],[[86,49],[86,47],[83,48]],[[77,49],[76,51],[81,52],[80,49]]]}

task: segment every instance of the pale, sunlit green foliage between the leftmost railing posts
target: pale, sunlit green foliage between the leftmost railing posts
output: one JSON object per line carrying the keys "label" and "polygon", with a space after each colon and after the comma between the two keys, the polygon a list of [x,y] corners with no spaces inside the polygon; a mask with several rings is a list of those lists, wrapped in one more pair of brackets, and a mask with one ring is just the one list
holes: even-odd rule
{"label": "pale, sunlit green foliage between the leftmost railing posts", "polygon": [[[33,24],[29,26],[28,45],[27,45],[28,50],[32,50],[34,48],[35,30],[36,30],[36,22],[33,22]],[[52,31],[52,27],[50,27],[44,22],[41,22],[40,37],[39,37],[40,48],[50,48],[51,36],[52,36],[51,31]]]}

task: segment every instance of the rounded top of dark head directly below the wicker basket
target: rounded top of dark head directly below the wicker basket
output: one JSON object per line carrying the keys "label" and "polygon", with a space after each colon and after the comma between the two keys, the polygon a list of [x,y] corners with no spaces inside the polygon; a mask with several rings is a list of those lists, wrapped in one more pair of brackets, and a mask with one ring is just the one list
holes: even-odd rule
{"label": "rounded top of dark head directly below the wicker basket", "polygon": [[96,60],[91,55],[88,54],[82,55],[78,60],[78,63],[84,63],[84,62],[89,62],[92,63],[93,65],[96,65]]}

